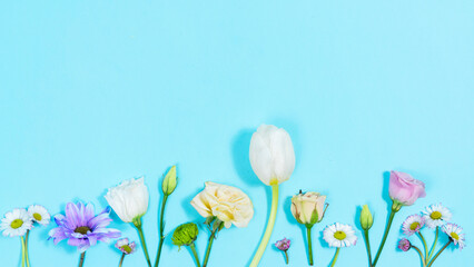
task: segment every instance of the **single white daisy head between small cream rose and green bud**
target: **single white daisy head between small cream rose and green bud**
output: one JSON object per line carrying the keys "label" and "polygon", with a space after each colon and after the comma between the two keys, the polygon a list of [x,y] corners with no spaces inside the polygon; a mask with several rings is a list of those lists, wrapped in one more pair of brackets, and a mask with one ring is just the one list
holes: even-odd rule
{"label": "single white daisy head between small cream rose and green bud", "polygon": [[327,226],[323,231],[323,238],[329,247],[350,247],[357,241],[353,227],[339,222]]}

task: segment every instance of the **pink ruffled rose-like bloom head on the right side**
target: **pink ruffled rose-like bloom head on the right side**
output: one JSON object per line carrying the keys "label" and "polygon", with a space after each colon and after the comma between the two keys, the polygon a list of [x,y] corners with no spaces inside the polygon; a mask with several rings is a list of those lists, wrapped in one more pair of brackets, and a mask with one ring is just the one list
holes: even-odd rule
{"label": "pink ruffled rose-like bloom head on the right side", "polygon": [[392,200],[411,206],[416,199],[426,197],[425,184],[408,174],[392,170],[388,194]]}

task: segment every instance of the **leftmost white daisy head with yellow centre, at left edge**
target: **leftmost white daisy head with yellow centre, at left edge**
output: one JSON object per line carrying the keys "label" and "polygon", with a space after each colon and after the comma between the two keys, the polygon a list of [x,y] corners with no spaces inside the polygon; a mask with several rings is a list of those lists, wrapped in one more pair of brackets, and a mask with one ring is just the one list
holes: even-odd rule
{"label": "leftmost white daisy head with yellow centre, at left edge", "polygon": [[13,209],[7,212],[0,224],[3,236],[10,237],[23,236],[31,227],[32,221],[26,209]]}

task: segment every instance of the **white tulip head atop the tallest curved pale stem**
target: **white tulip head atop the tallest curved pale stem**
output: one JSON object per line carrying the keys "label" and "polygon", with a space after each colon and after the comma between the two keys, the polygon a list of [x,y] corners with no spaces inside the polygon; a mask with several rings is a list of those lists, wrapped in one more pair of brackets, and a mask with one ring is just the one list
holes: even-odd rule
{"label": "white tulip head atop the tallest curved pale stem", "polygon": [[295,169],[292,138],[283,128],[261,125],[250,140],[250,165],[267,186],[289,179]]}

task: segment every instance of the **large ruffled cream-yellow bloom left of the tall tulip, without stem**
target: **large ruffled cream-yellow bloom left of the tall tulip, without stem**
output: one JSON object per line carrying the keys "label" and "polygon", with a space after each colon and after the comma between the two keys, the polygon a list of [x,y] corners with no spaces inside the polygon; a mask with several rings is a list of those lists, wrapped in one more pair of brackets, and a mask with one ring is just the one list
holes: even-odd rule
{"label": "large ruffled cream-yellow bloom left of the tall tulip, without stem", "polygon": [[206,187],[192,200],[192,207],[200,216],[216,216],[226,228],[231,225],[247,227],[254,217],[254,205],[240,189],[207,181]]}

